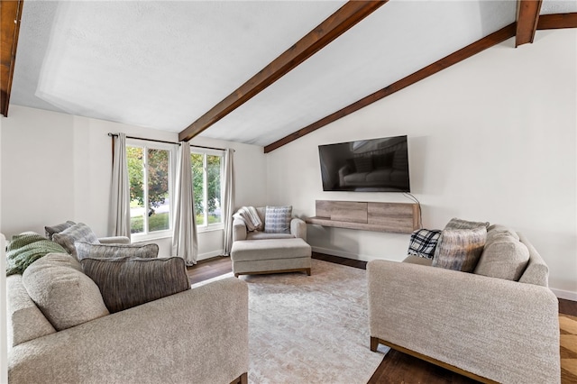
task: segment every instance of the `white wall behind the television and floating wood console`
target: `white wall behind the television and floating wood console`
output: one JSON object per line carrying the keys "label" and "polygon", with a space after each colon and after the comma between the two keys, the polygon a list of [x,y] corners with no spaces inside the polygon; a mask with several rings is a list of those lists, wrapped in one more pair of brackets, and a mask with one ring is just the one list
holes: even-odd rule
{"label": "white wall behind the television and floating wood console", "polygon": [[[317,150],[408,134],[426,228],[454,216],[508,224],[548,263],[557,295],[577,299],[577,31],[537,32],[535,43],[513,46],[505,41],[270,152],[270,203],[310,216],[316,199],[410,202],[323,192]],[[400,261],[408,247],[405,234],[317,225],[308,225],[308,239],[316,251],[365,261]]]}

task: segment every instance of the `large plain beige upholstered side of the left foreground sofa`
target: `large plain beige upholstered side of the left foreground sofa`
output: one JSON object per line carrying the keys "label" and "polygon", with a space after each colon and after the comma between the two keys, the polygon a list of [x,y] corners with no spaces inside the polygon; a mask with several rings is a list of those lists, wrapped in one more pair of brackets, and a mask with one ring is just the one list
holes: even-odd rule
{"label": "large plain beige upholstered side of the left foreground sofa", "polygon": [[21,343],[9,381],[228,383],[248,353],[248,288],[230,278]]}

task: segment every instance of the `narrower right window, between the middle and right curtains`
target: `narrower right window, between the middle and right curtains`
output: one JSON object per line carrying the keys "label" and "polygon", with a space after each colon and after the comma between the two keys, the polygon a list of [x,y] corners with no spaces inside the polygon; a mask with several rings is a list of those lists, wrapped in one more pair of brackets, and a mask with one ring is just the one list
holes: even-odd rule
{"label": "narrower right window, between the middle and right curtains", "polygon": [[221,180],[224,158],[221,151],[191,150],[192,185],[195,197],[197,227],[222,226]]}

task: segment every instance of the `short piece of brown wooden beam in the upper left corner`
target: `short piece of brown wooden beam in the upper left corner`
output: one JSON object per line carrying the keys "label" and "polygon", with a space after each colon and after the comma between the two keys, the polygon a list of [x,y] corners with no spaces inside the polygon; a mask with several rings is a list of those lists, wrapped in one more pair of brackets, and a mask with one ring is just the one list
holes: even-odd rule
{"label": "short piece of brown wooden beam in the upper left corner", "polygon": [[0,114],[8,116],[23,0],[0,1]]}

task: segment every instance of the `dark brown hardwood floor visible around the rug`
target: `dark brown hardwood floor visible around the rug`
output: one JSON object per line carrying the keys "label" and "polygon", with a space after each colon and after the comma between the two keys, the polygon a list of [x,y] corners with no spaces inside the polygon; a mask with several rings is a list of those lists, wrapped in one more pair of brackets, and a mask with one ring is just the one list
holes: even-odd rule
{"label": "dark brown hardwood floor visible around the rug", "polygon": [[[356,261],[338,256],[326,255],[313,252],[313,259],[334,262],[353,268],[366,270],[366,261]],[[205,261],[199,261],[197,265],[188,267],[188,278],[191,284],[231,272],[230,258],[215,257]],[[314,271],[313,271],[314,273]],[[577,302],[559,299],[559,313],[564,315],[577,315]],[[367,348],[369,340],[367,339]],[[391,350],[379,368],[375,370],[368,384],[395,383],[395,384],[465,384],[476,383],[473,379],[466,378],[451,370],[437,367],[434,364],[409,356],[408,354]]]}

